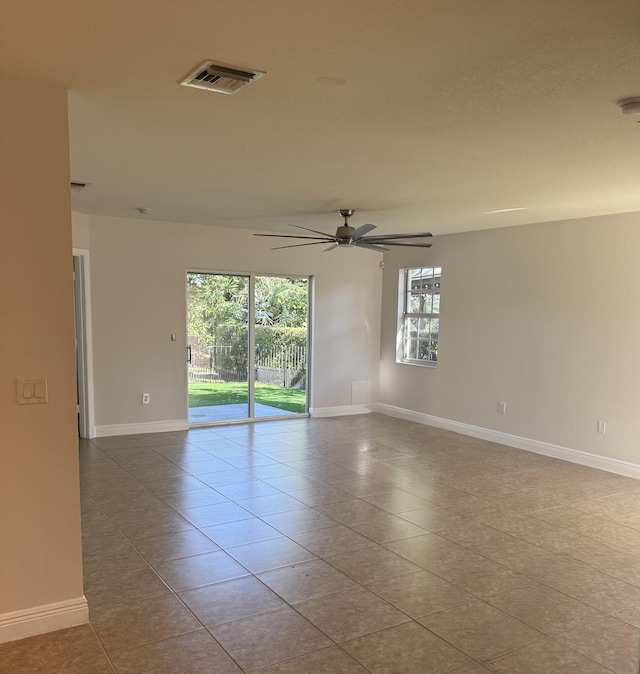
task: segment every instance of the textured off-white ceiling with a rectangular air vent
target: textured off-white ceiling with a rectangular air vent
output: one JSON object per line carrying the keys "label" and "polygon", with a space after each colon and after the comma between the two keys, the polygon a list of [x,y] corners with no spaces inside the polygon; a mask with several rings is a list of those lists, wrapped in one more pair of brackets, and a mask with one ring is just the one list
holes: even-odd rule
{"label": "textured off-white ceiling with a rectangular air vent", "polygon": [[[640,210],[640,117],[616,105],[640,95],[639,19],[637,0],[2,0],[0,74],[69,89],[76,210],[332,231],[350,207],[442,234]],[[267,75],[178,86],[206,59]]]}

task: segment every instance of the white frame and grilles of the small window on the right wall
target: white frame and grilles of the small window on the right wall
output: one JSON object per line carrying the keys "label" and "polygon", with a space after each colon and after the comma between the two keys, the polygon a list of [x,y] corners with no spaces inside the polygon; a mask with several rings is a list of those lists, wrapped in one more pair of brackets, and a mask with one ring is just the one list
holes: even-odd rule
{"label": "white frame and grilles of the small window on the right wall", "polygon": [[[410,279],[415,278],[412,272],[420,270],[420,279],[425,279],[424,285],[420,288],[409,286]],[[425,273],[426,272],[426,273]],[[428,279],[433,279],[431,287],[428,285]],[[396,344],[396,362],[406,363],[408,365],[418,365],[420,367],[437,367],[438,365],[438,342],[440,337],[440,284],[442,279],[442,267],[408,267],[400,270],[398,282],[398,339]],[[419,292],[416,292],[418,290]],[[422,311],[415,311],[411,307],[411,296],[424,296],[426,307]],[[435,300],[437,298],[437,300]],[[435,301],[434,301],[435,300]],[[413,311],[412,311],[413,309]],[[425,327],[425,321],[428,330],[421,329]],[[436,332],[433,337],[434,321]],[[417,336],[413,336],[416,335]],[[424,336],[420,336],[421,333]],[[420,344],[427,345],[429,357],[417,357],[420,352]],[[433,349],[435,345],[435,351]]]}

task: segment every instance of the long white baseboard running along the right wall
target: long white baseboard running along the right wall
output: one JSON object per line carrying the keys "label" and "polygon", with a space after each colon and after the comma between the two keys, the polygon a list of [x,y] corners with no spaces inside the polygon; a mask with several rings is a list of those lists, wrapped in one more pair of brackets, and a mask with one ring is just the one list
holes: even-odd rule
{"label": "long white baseboard running along the right wall", "polygon": [[374,412],[387,414],[391,417],[399,419],[406,419],[407,421],[414,421],[425,426],[434,426],[446,431],[453,431],[462,435],[470,435],[481,440],[489,440],[501,445],[508,445],[516,449],[524,449],[528,452],[536,454],[544,454],[556,459],[563,459],[564,461],[572,461],[590,468],[598,468],[606,470],[610,473],[617,473],[618,475],[625,475],[626,477],[633,477],[636,480],[640,479],[640,465],[637,463],[630,463],[629,461],[621,461],[620,459],[612,459],[599,454],[590,454],[579,449],[571,449],[570,447],[562,447],[560,445],[552,445],[548,442],[541,442],[540,440],[532,440],[530,438],[523,438],[519,435],[511,435],[510,433],[503,433],[501,431],[494,431],[489,428],[482,428],[481,426],[472,426],[470,424],[463,424],[459,421],[451,421],[450,419],[443,419],[442,417],[434,417],[431,414],[423,414],[422,412],[414,412],[402,407],[394,407],[393,405],[386,405],[385,403],[375,403],[372,406]]}

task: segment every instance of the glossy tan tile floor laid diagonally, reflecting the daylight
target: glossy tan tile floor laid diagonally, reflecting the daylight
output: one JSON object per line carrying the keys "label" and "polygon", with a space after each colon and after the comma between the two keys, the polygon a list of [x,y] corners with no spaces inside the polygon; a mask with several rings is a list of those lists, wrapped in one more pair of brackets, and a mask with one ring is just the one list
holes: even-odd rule
{"label": "glossy tan tile floor laid diagonally, reflecting the daylight", "polygon": [[81,444],[91,623],[1,673],[638,671],[638,481],[376,414]]}

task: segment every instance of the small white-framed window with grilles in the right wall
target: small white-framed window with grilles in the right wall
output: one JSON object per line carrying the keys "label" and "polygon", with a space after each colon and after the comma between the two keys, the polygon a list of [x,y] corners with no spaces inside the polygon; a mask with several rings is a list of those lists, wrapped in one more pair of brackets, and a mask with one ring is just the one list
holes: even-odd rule
{"label": "small white-framed window with grilles in the right wall", "polygon": [[441,267],[404,269],[400,276],[402,363],[435,366],[440,329]]}

